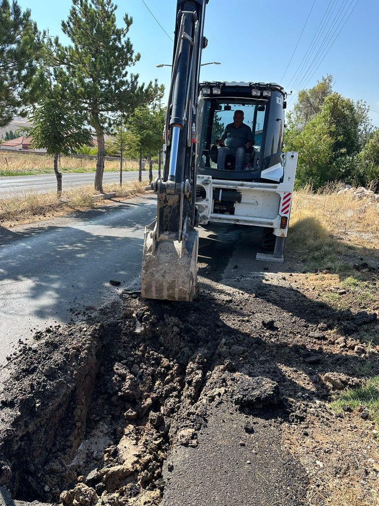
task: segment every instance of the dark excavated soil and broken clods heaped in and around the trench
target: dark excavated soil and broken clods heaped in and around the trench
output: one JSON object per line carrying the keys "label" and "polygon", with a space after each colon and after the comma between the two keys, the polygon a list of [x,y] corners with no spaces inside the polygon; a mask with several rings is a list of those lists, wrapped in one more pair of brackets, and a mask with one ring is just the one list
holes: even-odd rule
{"label": "dark excavated soil and broken clods heaped in and around the trench", "polygon": [[[0,486],[18,499],[67,506],[159,504],[168,455],[198,448],[210,413],[217,418],[228,406],[228,416],[244,417],[247,434],[269,420],[275,434],[288,435],[278,460],[288,467],[273,504],[301,504],[314,473],[304,455],[307,469],[296,461],[294,442],[311,433],[307,426],[346,425],[345,414],[325,404],[334,388],[327,378],[361,381],[361,358],[341,350],[328,329],[341,319],[362,326],[372,319],[305,301],[274,282],[254,290],[246,280],[244,289],[215,283],[191,304],[125,292],[101,323],[37,334],[38,346],[24,347],[0,394]],[[359,430],[369,424],[360,418]],[[353,452],[348,458],[367,460]],[[249,459],[249,466],[263,474],[267,466],[270,476],[273,459],[259,462]],[[286,499],[294,484],[296,496]],[[323,501],[318,494],[310,504]]]}

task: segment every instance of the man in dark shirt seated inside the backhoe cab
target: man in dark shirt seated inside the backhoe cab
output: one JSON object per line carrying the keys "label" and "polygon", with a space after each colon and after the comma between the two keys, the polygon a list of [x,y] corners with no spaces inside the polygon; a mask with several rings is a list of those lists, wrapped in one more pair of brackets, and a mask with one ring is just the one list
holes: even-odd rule
{"label": "man in dark shirt seated inside the backhoe cab", "polygon": [[225,169],[227,155],[235,156],[235,170],[242,171],[244,168],[245,149],[250,149],[254,144],[253,132],[249,125],[244,123],[244,111],[234,111],[233,122],[225,127],[221,139],[216,141],[220,146],[217,154],[217,168]]}

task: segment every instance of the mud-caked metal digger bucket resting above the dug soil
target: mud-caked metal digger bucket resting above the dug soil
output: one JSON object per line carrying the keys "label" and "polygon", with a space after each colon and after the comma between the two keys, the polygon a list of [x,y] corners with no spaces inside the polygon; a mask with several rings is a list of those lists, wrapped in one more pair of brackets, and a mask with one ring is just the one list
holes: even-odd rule
{"label": "mud-caked metal digger bucket resting above the dug soil", "polygon": [[199,233],[187,224],[183,240],[155,240],[157,220],[145,228],[141,296],[169,301],[194,300],[198,290]]}

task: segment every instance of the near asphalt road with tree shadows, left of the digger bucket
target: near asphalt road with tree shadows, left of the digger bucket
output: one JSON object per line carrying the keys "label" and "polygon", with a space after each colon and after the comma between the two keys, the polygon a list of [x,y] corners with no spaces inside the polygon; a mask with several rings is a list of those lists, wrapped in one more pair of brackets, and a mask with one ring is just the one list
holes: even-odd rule
{"label": "near asphalt road with tree shadows, left of the digger bucket", "polygon": [[99,308],[138,284],[145,225],[155,215],[156,197],[149,196],[0,227],[0,366],[31,330],[68,322],[73,309]]}

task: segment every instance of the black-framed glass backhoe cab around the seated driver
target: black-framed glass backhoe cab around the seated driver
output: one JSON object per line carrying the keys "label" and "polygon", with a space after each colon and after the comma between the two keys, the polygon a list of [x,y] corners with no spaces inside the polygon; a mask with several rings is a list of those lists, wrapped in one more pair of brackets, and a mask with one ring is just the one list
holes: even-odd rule
{"label": "black-framed glass backhoe cab around the seated driver", "polygon": [[[204,82],[199,97],[198,174],[238,181],[283,177],[281,153],[284,128],[283,88],[276,83]],[[245,149],[243,170],[235,171],[235,157],[227,155],[225,168],[218,168],[220,139],[234,111],[243,111],[244,123],[252,132],[252,146]]]}

